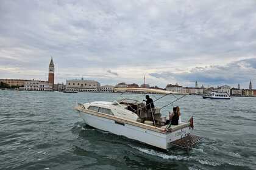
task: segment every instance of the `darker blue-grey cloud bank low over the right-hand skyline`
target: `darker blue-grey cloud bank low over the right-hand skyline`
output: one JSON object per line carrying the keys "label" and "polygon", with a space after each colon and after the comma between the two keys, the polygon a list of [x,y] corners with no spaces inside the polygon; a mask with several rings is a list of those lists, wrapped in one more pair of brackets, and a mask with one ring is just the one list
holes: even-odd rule
{"label": "darker blue-grey cloud bank low over the right-hand skyline", "polygon": [[161,72],[151,73],[150,75],[155,78],[175,79],[180,82],[193,83],[197,80],[205,84],[237,84],[256,78],[255,62],[256,58],[250,58],[229,63],[225,66],[194,67],[189,72]]}

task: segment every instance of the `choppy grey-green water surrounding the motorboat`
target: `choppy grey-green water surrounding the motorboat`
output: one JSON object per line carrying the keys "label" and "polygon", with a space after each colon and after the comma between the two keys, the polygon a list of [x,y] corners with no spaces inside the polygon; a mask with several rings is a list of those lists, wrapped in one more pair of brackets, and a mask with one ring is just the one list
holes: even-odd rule
{"label": "choppy grey-green water surrounding the motorboat", "polygon": [[194,134],[204,137],[190,155],[94,129],[73,109],[77,102],[116,98],[121,97],[0,90],[0,169],[256,169],[256,98],[188,96],[177,102],[182,120],[194,115]]}

